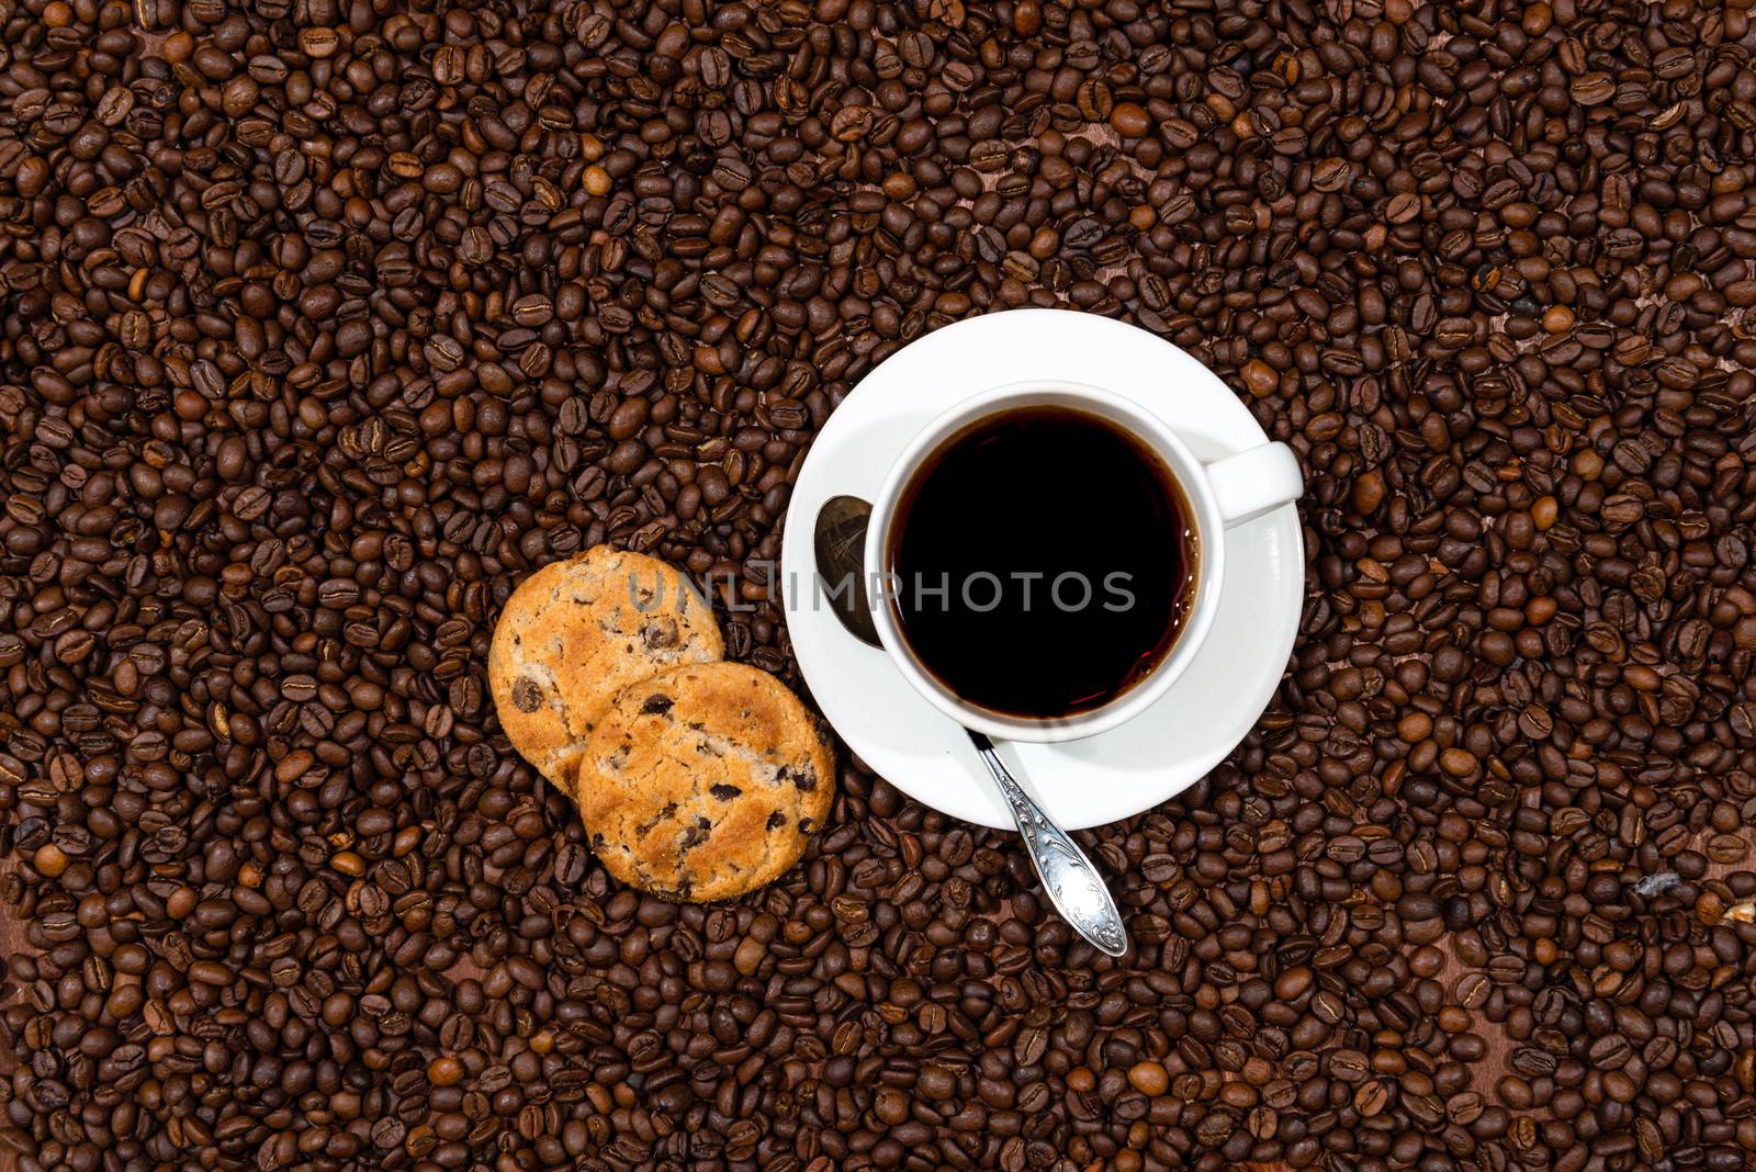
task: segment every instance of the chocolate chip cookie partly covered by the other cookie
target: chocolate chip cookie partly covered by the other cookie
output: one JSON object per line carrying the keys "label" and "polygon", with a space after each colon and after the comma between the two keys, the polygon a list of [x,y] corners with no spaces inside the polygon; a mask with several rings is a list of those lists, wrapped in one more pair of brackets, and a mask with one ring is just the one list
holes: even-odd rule
{"label": "chocolate chip cookie partly covered by the other cookie", "polygon": [[723,647],[713,609],[676,568],[597,546],[544,565],[506,600],[488,690],[513,747],[567,790],[567,758],[618,691]]}

